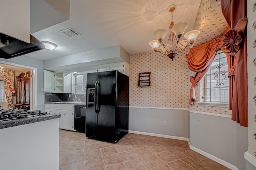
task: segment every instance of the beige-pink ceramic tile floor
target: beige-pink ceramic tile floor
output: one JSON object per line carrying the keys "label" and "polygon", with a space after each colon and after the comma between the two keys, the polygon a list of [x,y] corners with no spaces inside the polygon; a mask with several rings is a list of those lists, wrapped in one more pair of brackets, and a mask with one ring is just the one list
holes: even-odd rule
{"label": "beige-pink ceramic tile floor", "polygon": [[118,143],[60,129],[60,170],[228,170],[187,141],[128,133]]}

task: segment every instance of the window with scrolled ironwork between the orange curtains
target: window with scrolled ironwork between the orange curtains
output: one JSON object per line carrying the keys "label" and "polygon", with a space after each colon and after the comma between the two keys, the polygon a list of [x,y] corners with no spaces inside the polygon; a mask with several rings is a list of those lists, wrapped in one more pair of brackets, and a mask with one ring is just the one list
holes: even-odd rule
{"label": "window with scrolled ironwork between the orange curtains", "polygon": [[202,102],[228,103],[228,63],[220,49],[202,83]]}

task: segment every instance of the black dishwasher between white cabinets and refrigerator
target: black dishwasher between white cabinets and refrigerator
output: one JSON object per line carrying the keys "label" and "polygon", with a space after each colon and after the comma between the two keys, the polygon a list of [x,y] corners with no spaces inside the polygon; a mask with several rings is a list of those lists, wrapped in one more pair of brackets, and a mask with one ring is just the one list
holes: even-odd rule
{"label": "black dishwasher between white cabinets and refrigerator", "polygon": [[85,133],[86,106],[74,106],[74,130]]}

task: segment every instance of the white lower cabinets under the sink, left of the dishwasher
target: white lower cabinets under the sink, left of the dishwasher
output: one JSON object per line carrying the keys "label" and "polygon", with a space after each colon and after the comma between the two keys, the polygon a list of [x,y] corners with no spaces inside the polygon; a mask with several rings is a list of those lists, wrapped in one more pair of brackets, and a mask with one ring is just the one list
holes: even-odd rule
{"label": "white lower cabinets under the sink, left of the dishwasher", "polygon": [[48,113],[59,113],[60,129],[74,131],[74,105],[70,104],[45,104],[45,111]]}

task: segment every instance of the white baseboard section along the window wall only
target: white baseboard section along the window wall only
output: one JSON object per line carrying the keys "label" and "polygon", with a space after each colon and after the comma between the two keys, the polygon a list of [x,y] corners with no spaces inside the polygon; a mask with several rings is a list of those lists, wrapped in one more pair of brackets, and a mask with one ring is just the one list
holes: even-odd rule
{"label": "white baseboard section along the window wall only", "polygon": [[219,164],[222,164],[223,166],[226,166],[226,167],[228,167],[228,168],[230,168],[232,170],[239,170],[236,166],[234,166],[234,165],[232,165],[232,164],[230,164],[230,163],[228,163],[228,162],[226,162],[226,161],[224,161],[224,160],[222,160],[220,158],[217,158],[216,156],[208,154],[207,152],[204,152],[204,151],[202,151],[200,149],[197,149],[196,147],[193,147],[193,146],[190,145],[190,149],[194,150],[195,152],[198,152],[198,153],[206,156],[207,158],[209,158],[211,160],[214,160],[215,162],[218,162]]}

